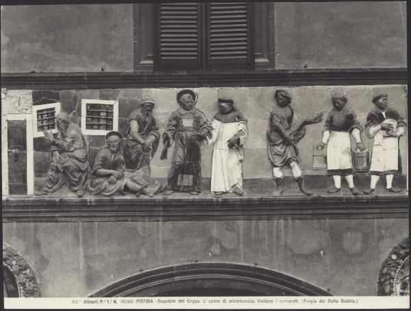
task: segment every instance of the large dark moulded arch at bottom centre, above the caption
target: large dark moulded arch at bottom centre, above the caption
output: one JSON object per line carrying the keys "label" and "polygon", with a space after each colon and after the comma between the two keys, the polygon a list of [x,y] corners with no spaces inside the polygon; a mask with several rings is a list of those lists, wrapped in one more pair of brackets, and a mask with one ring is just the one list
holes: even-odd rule
{"label": "large dark moulded arch at bottom centre, above the caption", "polygon": [[138,273],[90,297],[151,296],[331,296],[312,284],[267,268],[195,263]]}

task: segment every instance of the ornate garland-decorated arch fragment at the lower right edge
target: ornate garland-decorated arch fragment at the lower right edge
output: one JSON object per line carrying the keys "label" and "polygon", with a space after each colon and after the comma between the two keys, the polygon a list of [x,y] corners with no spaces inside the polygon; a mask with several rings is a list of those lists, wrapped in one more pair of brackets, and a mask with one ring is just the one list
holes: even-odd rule
{"label": "ornate garland-decorated arch fragment at the lower right edge", "polygon": [[378,296],[410,295],[410,240],[403,239],[382,263],[378,274]]}

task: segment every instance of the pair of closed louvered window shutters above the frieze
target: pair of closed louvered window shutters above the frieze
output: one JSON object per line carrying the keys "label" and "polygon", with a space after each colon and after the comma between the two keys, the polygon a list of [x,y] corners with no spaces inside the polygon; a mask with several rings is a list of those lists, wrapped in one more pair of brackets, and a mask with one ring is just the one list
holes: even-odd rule
{"label": "pair of closed louvered window shutters above the frieze", "polygon": [[159,3],[157,16],[157,69],[252,65],[246,2]]}

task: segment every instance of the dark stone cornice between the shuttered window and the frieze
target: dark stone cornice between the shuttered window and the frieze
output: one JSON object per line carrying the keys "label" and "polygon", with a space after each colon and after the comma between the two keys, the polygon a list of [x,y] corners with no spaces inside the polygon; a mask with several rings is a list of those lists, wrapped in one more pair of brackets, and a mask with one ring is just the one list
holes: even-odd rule
{"label": "dark stone cornice between the shuttered window and the frieze", "polygon": [[1,73],[7,89],[123,89],[407,84],[407,69]]}

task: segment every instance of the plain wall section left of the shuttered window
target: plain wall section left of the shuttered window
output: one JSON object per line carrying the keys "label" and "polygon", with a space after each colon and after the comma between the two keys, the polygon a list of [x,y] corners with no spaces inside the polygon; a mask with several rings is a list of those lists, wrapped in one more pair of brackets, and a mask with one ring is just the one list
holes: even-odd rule
{"label": "plain wall section left of the shuttered window", "polygon": [[132,70],[132,4],[1,7],[1,72]]}

